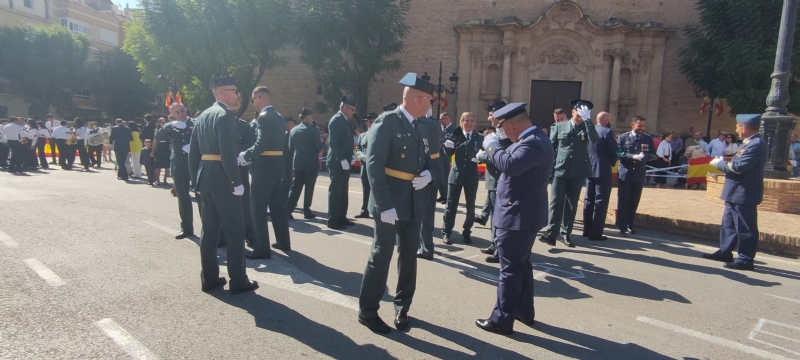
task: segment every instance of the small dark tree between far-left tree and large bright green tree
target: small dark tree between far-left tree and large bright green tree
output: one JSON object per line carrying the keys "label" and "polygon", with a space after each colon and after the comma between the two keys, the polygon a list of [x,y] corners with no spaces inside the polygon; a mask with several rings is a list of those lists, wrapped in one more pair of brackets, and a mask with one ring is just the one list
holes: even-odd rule
{"label": "small dark tree between far-left tree and large bright green tree", "polygon": [[[153,91],[142,83],[136,61],[122,50],[103,50],[90,62],[92,93],[101,94],[111,118],[131,119],[152,108]],[[159,104],[160,105],[160,104]]]}

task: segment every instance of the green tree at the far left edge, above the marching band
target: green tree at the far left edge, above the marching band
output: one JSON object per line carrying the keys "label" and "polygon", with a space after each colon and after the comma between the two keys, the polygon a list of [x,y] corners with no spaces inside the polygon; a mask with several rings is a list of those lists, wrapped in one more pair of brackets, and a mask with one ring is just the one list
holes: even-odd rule
{"label": "green tree at the far left edge, above the marching band", "polygon": [[0,49],[0,76],[31,104],[31,116],[44,119],[51,106],[72,114],[74,91],[86,85],[86,36],[62,26],[0,27]]}

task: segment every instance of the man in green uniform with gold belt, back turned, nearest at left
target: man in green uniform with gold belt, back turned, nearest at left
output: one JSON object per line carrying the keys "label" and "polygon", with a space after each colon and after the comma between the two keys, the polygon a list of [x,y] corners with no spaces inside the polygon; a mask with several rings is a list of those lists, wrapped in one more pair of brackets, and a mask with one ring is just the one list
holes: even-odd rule
{"label": "man in green uniform with gold belt, back turned, nearest at left", "polygon": [[258,283],[247,278],[244,263],[244,185],[236,164],[239,135],[236,114],[231,110],[241,97],[232,77],[212,78],[211,89],[217,101],[195,121],[189,151],[189,173],[203,201],[200,279],[203,291],[225,284],[217,262],[220,230],[225,231],[230,291],[236,294],[258,288]]}

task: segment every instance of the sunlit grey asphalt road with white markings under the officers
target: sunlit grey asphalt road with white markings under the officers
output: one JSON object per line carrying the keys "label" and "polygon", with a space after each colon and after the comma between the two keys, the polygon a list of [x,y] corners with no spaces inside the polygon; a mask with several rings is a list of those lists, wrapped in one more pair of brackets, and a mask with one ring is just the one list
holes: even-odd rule
{"label": "sunlit grey asphalt road with white markings under the officers", "polygon": [[[0,358],[800,359],[797,260],[759,255],[756,271],[733,272],[701,259],[712,248],[691,239],[608,231],[590,243],[579,226],[575,248],[534,246],[534,328],[517,323],[505,337],[475,327],[497,278],[478,226],[474,244],[437,239],[437,258],[420,260],[411,329],[373,334],[356,321],[373,220],[325,228],[327,183],[321,174],[321,217],[290,223],[294,251],[248,261],[261,288],[231,295],[200,291],[198,247],[173,238],[168,189],[110,169],[0,174]],[[350,188],[352,217],[357,178]],[[460,230],[463,213],[456,221]]]}

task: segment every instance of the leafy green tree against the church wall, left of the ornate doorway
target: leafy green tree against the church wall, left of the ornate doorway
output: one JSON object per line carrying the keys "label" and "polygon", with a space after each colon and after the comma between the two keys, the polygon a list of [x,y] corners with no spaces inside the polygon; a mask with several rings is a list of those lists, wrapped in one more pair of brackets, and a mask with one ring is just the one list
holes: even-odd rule
{"label": "leafy green tree against the church wall, left of the ornate doorway", "polygon": [[367,112],[377,75],[400,69],[410,0],[306,0],[298,5],[297,43],[325,100],[317,110],[336,108],[352,94]]}

